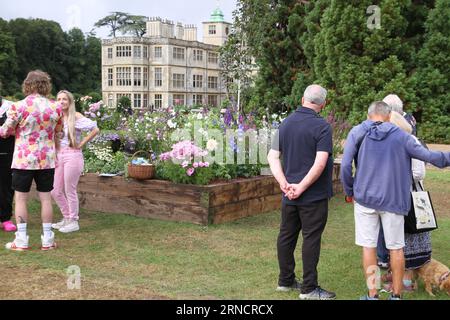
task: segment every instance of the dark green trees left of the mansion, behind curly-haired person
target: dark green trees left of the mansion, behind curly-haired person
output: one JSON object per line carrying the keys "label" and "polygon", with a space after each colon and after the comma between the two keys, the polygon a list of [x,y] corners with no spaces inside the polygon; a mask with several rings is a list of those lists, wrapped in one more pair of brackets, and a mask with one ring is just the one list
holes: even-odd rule
{"label": "dark green trees left of the mansion, behind curly-haired person", "polygon": [[[4,94],[21,90],[28,72],[41,69],[61,89],[86,94],[101,90],[101,41],[79,29],[64,32],[54,21],[0,19],[0,82]],[[6,81],[5,81],[6,80]]]}

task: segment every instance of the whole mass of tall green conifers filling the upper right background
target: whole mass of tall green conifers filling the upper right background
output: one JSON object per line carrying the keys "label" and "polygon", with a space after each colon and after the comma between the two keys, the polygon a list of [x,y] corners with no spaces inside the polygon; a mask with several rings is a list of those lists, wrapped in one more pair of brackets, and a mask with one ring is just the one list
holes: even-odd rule
{"label": "whole mass of tall green conifers filling the upper right background", "polygon": [[[371,5],[381,28],[368,27]],[[248,109],[293,110],[305,88],[329,90],[328,112],[352,124],[395,93],[428,141],[449,141],[449,21],[445,0],[239,0],[235,21],[258,76]],[[433,9],[433,10],[431,10]]]}

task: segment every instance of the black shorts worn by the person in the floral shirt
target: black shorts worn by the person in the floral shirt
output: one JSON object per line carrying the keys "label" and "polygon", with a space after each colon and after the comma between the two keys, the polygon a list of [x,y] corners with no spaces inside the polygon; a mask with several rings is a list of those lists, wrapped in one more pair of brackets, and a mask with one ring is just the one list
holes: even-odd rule
{"label": "black shorts worn by the person in the floral shirt", "polygon": [[55,169],[48,170],[12,170],[12,188],[17,192],[28,193],[33,180],[38,192],[51,192],[55,179]]}

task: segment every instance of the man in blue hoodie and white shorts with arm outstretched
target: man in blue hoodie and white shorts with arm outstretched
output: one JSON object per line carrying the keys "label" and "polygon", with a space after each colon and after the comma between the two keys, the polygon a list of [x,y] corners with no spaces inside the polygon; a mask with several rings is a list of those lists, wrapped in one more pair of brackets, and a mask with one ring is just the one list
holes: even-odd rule
{"label": "man in blue hoodie and white shorts with arm outstretched", "polygon": [[[369,108],[369,120],[352,129],[345,146],[341,179],[345,193],[355,200],[356,244],[363,247],[368,283],[377,272],[381,218],[391,254],[394,287],[391,299],[396,300],[403,289],[404,217],[411,208],[411,159],[444,168],[450,166],[450,153],[427,150],[413,136],[389,123],[390,113],[386,103],[374,102]],[[366,298],[378,298],[376,286],[370,286]]]}

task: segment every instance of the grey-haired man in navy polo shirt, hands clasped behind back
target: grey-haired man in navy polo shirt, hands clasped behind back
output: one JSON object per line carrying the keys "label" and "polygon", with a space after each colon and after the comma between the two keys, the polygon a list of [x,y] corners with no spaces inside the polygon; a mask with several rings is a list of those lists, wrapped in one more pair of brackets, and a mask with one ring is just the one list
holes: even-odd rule
{"label": "grey-haired man in navy polo shirt, hands clasped behind back", "polygon": [[[272,173],[283,191],[277,291],[300,290],[302,300],[336,298],[335,293],[319,287],[317,275],[328,201],[333,196],[332,129],[319,116],[325,108],[326,97],[327,91],[321,86],[306,89],[303,106],[282,123],[268,156]],[[294,252],[300,231],[303,284],[295,276]]]}

